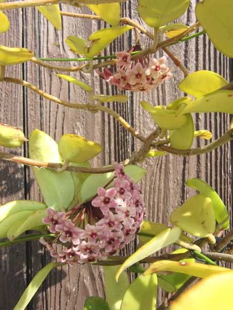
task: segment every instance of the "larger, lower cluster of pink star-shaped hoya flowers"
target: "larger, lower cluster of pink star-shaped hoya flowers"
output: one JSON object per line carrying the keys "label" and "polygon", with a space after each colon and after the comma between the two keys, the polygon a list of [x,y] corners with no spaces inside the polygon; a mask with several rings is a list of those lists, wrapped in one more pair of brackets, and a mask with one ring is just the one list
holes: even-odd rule
{"label": "larger, lower cluster of pink star-shaped hoya flowers", "polygon": [[114,177],[112,188],[99,187],[97,196],[79,205],[74,214],[48,209],[43,222],[57,238],[40,242],[58,262],[96,263],[135,238],[145,212],[143,195],[122,165],[115,164]]}

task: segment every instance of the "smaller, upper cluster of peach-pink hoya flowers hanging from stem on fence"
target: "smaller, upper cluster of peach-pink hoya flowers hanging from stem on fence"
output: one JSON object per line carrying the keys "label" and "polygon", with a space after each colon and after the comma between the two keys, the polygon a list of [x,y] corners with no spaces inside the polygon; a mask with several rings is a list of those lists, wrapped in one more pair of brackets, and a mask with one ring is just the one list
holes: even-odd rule
{"label": "smaller, upper cluster of peach-pink hoya flowers hanging from stem on fence", "polygon": [[172,68],[165,64],[167,61],[165,56],[158,60],[144,57],[135,61],[131,59],[129,53],[124,51],[116,53],[116,56],[117,71],[115,74],[107,68],[98,73],[110,85],[117,85],[119,89],[149,92],[162,84],[164,80],[172,77]]}

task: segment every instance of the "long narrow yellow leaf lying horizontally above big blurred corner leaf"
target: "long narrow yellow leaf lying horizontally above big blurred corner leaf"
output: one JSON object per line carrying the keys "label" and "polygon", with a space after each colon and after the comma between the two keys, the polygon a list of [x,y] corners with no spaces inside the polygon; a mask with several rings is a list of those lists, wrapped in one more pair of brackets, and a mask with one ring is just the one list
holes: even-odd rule
{"label": "long narrow yellow leaf lying horizontally above big blurred corner leaf", "polygon": [[153,263],[144,273],[150,275],[161,271],[179,272],[198,278],[204,278],[217,272],[228,271],[229,269],[219,266],[206,265],[192,262],[158,261]]}

